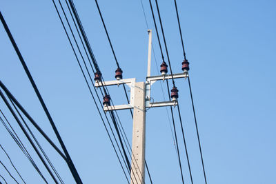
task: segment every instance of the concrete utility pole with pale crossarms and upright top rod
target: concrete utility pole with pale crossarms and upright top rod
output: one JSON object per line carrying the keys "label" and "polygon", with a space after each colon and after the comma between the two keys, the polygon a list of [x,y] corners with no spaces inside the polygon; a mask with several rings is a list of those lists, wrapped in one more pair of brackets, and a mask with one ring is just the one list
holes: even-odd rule
{"label": "concrete utility pole with pale crossarms and upright top rod", "polygon": [[[133,128],[132,128],[132,161],[131,161],[131,184],[145,183],[145,148],[146,148],[146,108],[157,108],[164,106],[177,105],[177,101],[163,101],[150,103],[150,87],[153,83],[160,80],[172,79],[172,75],[164,74],[150,76],[151,43],[152,31],[148,30],[148,73],[145,82],[136,82],[135,78],[120,79],[116,81],[105,81],[105,83],[95,83],[96,87],[103,85],[126,84],[130,87],[130,103],[124,105],[105,105],[104,111],[133,109]],[[186,78],[188,72],[173,74],[174,79]]]}

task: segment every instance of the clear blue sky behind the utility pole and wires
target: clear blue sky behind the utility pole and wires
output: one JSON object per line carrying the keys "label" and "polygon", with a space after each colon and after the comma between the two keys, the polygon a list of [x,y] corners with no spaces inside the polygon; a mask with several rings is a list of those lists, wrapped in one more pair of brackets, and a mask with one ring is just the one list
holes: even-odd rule
{"label": "clear blue sky behind the utility pole and wires", "polygon": [[[149,3],[143,0],[152,28],[157,65],[161,63]],[[275,1],[177,1],[188,60],[195,108],[199,123],[206,175],[210,184],[276,183],[275,164]],[[113,80],[116,65],[94,1],[75,1],[79,17],[106,81]],[[148,34],[141,2],[99,1],[124,78],[144,81]],[[181,72],[181,42],[173,1],[159,1],[172,62]],[[126,183],[97,114],[77,61],[61,27],[52,1],[0,1],[8,23],[34,81],[58,127],[83,183]],[[17,97],[58,144],[50,123],[32,90],[10,40],[0,25],[1,81]],[[159,69],[159,68],[158,68]],[[159,74],[152,58],[152,74]],[[193,121],[188,81],[177,80],[194,183],[204,183]],[[166,87],[163,83],[164,88]],[[125,103],[121,87],[110,88],[116,104]],[[163,99],[160,84],[152,88],[155,101]],[[3,101],[0,108],[18,132],[52,183],[32,147],[12,119]],[[175,113],[177,110],[174,110]],[[119,112],[131,141],[130,113]],[[177,119],[177,118],[176,118]],[[179,119],[176,121],[177,129]],[[32,125],[30,125],[32,127]],[[177,154],[172,141],[166,108],[150,109],[146,115],[146,159],[153,183],[181,183]],[[34,128],[32,127],[32,130]],[[21,150],[0,125],[0,143],[27,183],[43,183]],[[65,183],[74,183],[61,157],[34,130]],[[186,183],[188,167],[183,141],[181,158]],[[17,177],[6,156],[3,161]],[[0,165],[0,174],[8,176]],[[148,178],[147,178],[148,180]]]}

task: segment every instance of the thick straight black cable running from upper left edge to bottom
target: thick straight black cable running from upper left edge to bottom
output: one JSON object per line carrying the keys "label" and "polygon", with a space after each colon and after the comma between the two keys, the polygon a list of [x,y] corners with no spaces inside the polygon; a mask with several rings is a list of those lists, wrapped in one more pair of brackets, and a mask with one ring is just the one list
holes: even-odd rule
{"label": "thick straight black cable running from upper left edge to bottom", "polygon": [[46,107],[46,104],[44,103],[43,99],[42,99],[42,96],[37,88],[37,85],[34,83],[34,79],[32,79],[32,75],[30,74],[30,71],[28,70],[28,67],[21,55],[21,52],[19,51],[19,48],[17,47],[17,44],[15,43],[13,37],[12,37],[12,34],[10,32],[10,29],[8,28],[8,25],[6,24],[6,21],[3,19],[3,16],[0,12],[0,19],[1,19],[1,22],[3,23],[3,26],[8,34],[8,37],[10,38],[10,41],[12,42],[12,45],[14,47],[14,50],[17,52],[17,56],[19,57],[19,60],[21,61],[21,64],[23,65],[23,68],[28,76],[28,79],[30,80],[30,83],[32,84],[32,88],[34,88],[34,92],[37,94],[37,97],[39,99],[39,102],[41,103],[42,107],[43,107],[43,110],[44,112],[46,113],[46,116],[48,117],[48,120],[50,121],[50,124],[52,126],[52,129],[54,130],[56,136],[57,136],[57,139],[62,147],[62,150],[64,152],[64,154],[66,155],[66,159],[67,159],[67,164],[68,164],[68,167],[72,173],[72,175],[74,176],[75,178],[75,181],[77,183],[82,183],[81,181],[81,178],[79,177],[79,174],[77,173],[77,170],[75,168],[75,165],[74,163],[72,162],[72,159],[70,158],[70,155],[66,149],[66,146],[64,145],[62,139],[61,139],[61,136],[59,135],[59,132],[57,130],[57,127],[54,123],[54,121],[52,120],[52,116],[50,116],[50,112],[48,111],[48,108]]}

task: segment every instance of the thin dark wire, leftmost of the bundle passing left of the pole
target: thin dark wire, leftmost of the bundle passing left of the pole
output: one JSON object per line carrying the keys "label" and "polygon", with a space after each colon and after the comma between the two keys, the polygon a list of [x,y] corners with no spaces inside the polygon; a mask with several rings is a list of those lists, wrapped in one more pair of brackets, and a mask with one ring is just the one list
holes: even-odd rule
{"label": "thin dark wire, leftmost of the bundle passing left of the pole", "polygon": [[[57,6],[56,6],[56,4],[55,4],[55,1],[53,1],[53,3],[54,3],[54,6],[55,6],[55,8],[56,8],[56,10],[57,10]],[[79,62],[79,59],[78,59],[78,57],[77,57],[77,53],[75,52],[75,48],[74,48],[73,45],[72,45],[72,42],[71,42],[71,40],[70,40],[70,37],[69,37],[68,32],[67,32],[67,30],[66,30],[66,28],[65,28],[65,25],[63,24],[63,21],[62,21],[62,19],[61,19],[61,17],[60,17],[60,14],[59,14],[58,10],[57,10],[57,13],[58,13],[58,15],[59,15],[59,19],[60,19],[60,21],[61,21],[61,23],[62,23],[62,25],[63,25],[63,29],[64,29],[65,32],[66,32],[66,36],[68,37],[68,41],[70,42],[71,48],[72,48],[72,50],[73,50],[73,52],[74,52],[74,54],[75,54],[75,57],[76,57],[76,59],[77,59],[77,62],[78,62],[78,64],[79,64],[79,67],[80,67],[80,69],[81,69],[81,73],[83,74],[83,77],[84,77],[84,79],[85,79],[85,81],[86,81],[86,84],[88,85],[88,89],[89,89],[89,91],[90,91],[90,94],[91,94],[91,96],[92,96],[92,99],[93,99],[93,101],[95,102],[95,105],[96,105],[96,107],[97,107],[97,110],[98,110],[98,112],[99,112],[99,114],[100,114],[100,116],[101,116],[101,112],[99,111],[99,107],[98,107],[98,105],[97,105],[97,102],[96,102],[96,100],[95,100],[95,97],[94,97],[94,95],[92,94],[92,90],[91,90],[91,88],[90,88],[90,85],[89,85],[89,83],[88,83],[88,80],[86,79],[86,75],[84,74],[83,69],[81,68],[81,63]],[[118,155],[118,153],[117,153],[117,150],[115,149],[115,145],[114,145],[114,143],[113,143],[113,141],[112,141],[112,139],[111,139],[111,136],[110,136],[110,134],[109,134],[109,132],[108,132],[108,128],[106,127],[106,124],[104,123],[103,117],[102,117],[102,116],[101,116],[101,120],[102,120],[103,125],[104,125],[104,127],[105,127],[105,129],[106,129],[106,132],[108,133],[108,137],[109,137],[109,139],[110,139],[110,142],[112,143],[113,149],[115,150],[115,153],[116,153],[116,155],[117,155],[117,158],[118,158],[118,160],[119,160],[119,163],[120,163],[120,165],[121,165],[121,168],[122,168],[122,170],[123,170],[123,172],[124,172],[124,175],[126,176],[126,172],[125,172],[124,167],[123,167],[123,165],[122,165],[122,163],[121,163],[121,160],[119,159],[119,155]],[[123,159],[123,160],[124,160],[124,159]],[[126,176],[126,180],[128,181],[128,177],[127,177],[127,176]],[[128,183],[129,183],[129,181],[128,181]]]}

